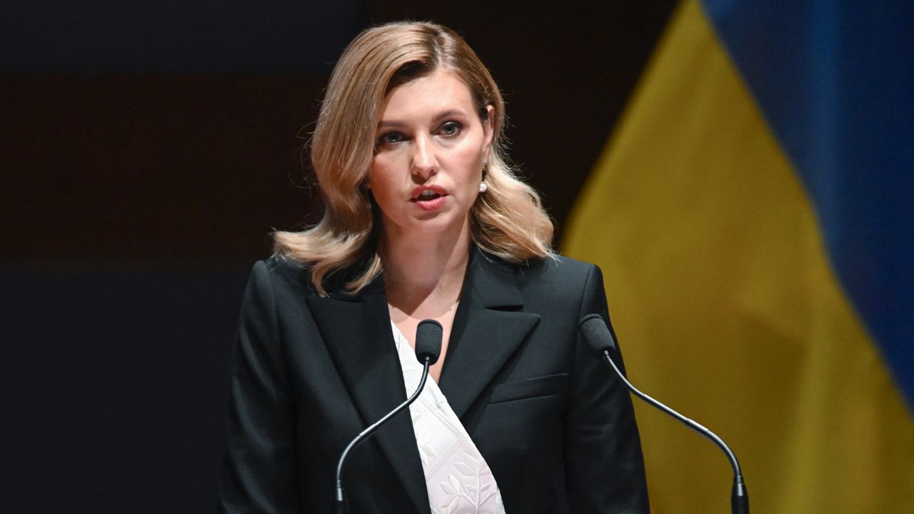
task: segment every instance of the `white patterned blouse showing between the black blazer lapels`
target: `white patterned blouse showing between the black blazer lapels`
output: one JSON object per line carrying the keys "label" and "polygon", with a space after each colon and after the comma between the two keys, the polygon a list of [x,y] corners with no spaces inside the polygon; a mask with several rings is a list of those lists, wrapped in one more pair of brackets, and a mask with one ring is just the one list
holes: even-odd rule
{"label": "white patterned blouse showing between the black blazer lapels", "polygon": [[[390,322],[407,394],[419,387],[422,365],[409,340]],[[409,405],[419,444],[432,514],[505,514],[502,495],[483,455],[435,380],[428,380],[416,402]]]}

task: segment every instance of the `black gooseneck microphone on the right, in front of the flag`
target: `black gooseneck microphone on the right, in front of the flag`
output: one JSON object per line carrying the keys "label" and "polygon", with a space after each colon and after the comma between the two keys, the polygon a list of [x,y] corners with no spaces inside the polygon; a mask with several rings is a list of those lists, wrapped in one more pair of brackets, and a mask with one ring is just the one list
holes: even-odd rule
{"label": "black gooseneck microphone on the right, in front of the flag", "polygon": [[733,491],[730,494],[730,509],[733,514],[749,514],[749,492],[746,490],[746,483],[743,481],[742,472],[739,470],[739,461],[737,456],[730,450],[730,447],[727,443],[724,443],[724,440],[714,434],[706,427],[702,426],[699,423],[696,423],[689,418],[686,418],[684,415],[679,412],[675,412],[673,409],[670,409],[661,402],[657,402],[650,396],[644,394],[642,391],[638,391],[629,382],[622,371],[616,367],[616,363],[612,361],[610,357],[610,350],[617,352],[616,341],[612,337],[610,328],[606,326],[606,322],[603,321],[603,318],[597,314],[589,314],[581,318],[578,324],[580,334],[584,337],[584,340],[590,345],[590,348],[596,350],[604,359],[610,364],[613,371],[616,372],[616,375],[622,380],[622,383],[625,384],[625,387],[632,391],[638,398],[641,398],[644,402],[648,402],[657,409],[660,409],[663,412],[673,416],[675,419],[679,420],[682,423],[685,423],[685,426],[696,431],[698,434],[702,434],[708,439],[710,439],[714,444],[717,444],[721,450],[727,454],[728,459],[730,460],[730,466],[733,466]]}

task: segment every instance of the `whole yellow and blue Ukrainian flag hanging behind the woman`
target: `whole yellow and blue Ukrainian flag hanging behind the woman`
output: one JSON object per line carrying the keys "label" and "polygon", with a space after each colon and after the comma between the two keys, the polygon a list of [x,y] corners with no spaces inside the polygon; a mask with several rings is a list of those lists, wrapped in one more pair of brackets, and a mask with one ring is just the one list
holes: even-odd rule
{"label": "whole yellow and blue Ukrainian flag hanging behind the woman", "polygon": [[[753,512],[914,512],[914,2],[685,0],[565,242]],[[654,512],[728,512],[724,455],[638,416]]]}

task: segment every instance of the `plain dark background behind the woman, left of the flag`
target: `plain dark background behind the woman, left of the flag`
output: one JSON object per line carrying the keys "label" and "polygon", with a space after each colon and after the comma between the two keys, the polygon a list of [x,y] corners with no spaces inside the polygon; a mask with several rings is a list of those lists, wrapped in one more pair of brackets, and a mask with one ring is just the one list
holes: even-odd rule
{"label": "plain dark background behind the woman, left of the flag", "polygon": [[0,6],[0,511],[214,510],[247,273],[317,220],[303,138],[359,30],[467,39],[560,240],[674,4]]}

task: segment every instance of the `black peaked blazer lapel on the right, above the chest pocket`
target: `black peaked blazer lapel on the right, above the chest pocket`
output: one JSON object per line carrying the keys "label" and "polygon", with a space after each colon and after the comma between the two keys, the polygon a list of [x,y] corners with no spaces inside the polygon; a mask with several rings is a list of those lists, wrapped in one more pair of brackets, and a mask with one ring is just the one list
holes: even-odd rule
{"label": "black peaked blazer lapel on the right, above the chest pocket", "polygon": [[515,272],[474,250],[454,316],[439,387],[462,417],[515,353],[539,315],[520,312]]}

